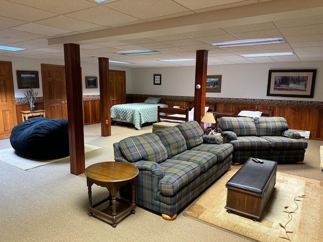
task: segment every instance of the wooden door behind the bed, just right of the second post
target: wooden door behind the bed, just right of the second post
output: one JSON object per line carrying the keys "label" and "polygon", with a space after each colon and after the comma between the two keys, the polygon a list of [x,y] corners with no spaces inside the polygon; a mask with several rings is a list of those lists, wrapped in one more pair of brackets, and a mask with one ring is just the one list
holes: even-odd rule
{"label": "wooden door behind the bed, just right of the second post", "polygon": [[126,73],[124,71],[110,71],[109,79],[111,106],[126,103]]}

